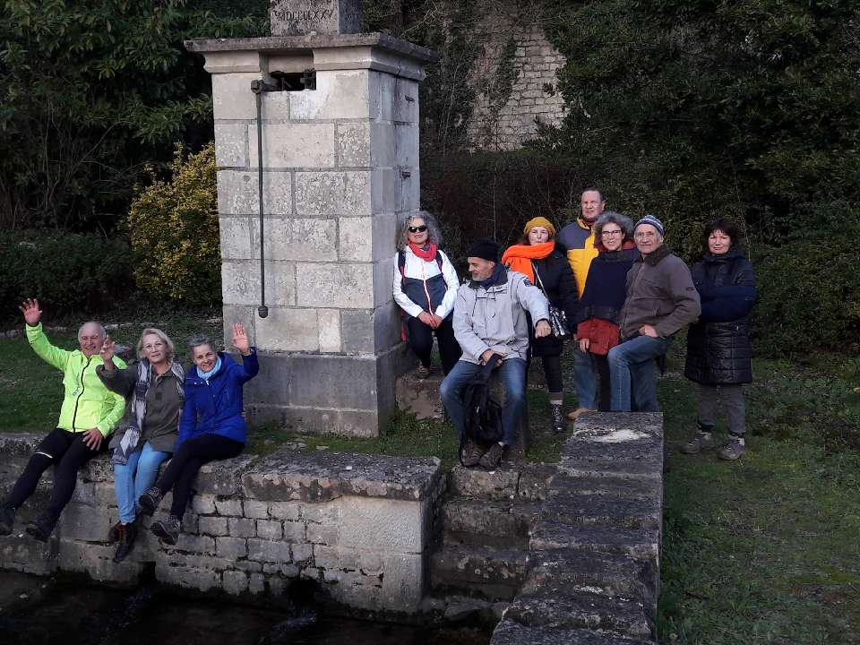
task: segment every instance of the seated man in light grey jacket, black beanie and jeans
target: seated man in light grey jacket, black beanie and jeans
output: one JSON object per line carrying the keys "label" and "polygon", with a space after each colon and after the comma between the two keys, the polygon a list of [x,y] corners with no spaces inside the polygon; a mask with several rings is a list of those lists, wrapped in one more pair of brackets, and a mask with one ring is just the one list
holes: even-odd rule
{"label": "seated man in light grey jacket, black beanie and jeans", "polygon": [[454,336],[462,357],[445,377],[440,388],[445,409],[458,436],[466,423],[463,391],[472,377],[494,354],[501,357],[499,372],[505,387],[502,409],[502,441],[486,452],[474,443],[464,448],[463,465],[492,469],[502,461],[506,446],[513,443],[517,421],[526,398],[526,358],[529,352],[528,311],[535,337],[551,333],[546,297],[529,279],[508,271],[499,262],[499,247],[491,240],[478,240],[467,251],[472,280],[460,286],[454,303]]}

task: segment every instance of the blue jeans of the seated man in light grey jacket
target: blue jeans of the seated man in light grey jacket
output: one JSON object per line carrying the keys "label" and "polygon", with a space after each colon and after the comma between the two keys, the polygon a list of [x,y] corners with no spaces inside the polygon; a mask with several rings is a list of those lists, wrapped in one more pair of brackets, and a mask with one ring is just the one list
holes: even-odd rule
{"label": "blue jeans of the seated man in light grey jacket", "polygon": [[[466,406],[463,403],[463,391],[472,377],[481,371],[481,366],[469,361],[459,360],[451,372],[445,376],[439,393],[442,402],[448,410],[457,436],[462,438],[466,426]],[[502,408],[502,443],[513,443],[513,434],[522,416],[522,407],[526,402],[526,362],[521,358],[508,358],[499,367],[499,375],[504,383],[504,406]]]}

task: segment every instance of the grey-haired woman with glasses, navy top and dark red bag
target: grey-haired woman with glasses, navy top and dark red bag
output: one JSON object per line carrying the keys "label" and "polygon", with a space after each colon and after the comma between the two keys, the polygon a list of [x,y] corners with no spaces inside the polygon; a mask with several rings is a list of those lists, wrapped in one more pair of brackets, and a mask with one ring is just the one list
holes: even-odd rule
{"label": "grey-haired woman with glasses, navy top and dark red bag", "polygon": [[598,256],[591,261],[588,280],[575,322],[580,349],[595,357],[599,375],[598,409],[609,409],[609,363],[606,354],[619,342],[618,323],[626,296],[627,271],[639,251],[631,235],[632,219],[605,211],[594,225]]}

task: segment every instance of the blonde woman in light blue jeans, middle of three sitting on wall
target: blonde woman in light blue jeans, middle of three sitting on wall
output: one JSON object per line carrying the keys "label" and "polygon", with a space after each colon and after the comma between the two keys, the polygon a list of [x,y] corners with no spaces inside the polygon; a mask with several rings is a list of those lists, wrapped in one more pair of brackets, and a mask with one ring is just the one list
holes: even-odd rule
{"label": "blonde woman in light blue jeans, middle of three sitting on wall", "polygon": [[131,553],[137,537],[137,500],[159,474],[176,444],[179,413],[185,401],[185,370],[173,360],[173,341],[159,329],[143,330],[137,342],[140,360],[117,369],[116,346],[105,339],[101,348],[104,365],[96,374],[108,390],[131,397],[123,423],[110,442],[114,464],[114,492],[119,520],[108,539],[118,542],[114,562]]}

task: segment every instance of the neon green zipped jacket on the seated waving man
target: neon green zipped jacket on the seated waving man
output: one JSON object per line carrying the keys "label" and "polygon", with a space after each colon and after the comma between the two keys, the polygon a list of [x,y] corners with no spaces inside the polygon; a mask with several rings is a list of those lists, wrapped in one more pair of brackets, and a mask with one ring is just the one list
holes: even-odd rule
{"label": "neon green zipped jacket on the seated waving man", "polygon": [[[96,374],[96,367],[103,365],[101,357],[85,357],[80,349],[68,351],[56,348],[47,340],[42,323],[35,327],[25,325],[30,347],[48,365],[63,372],[63,408],[60,409],[58,428],[71,432],[86,432],[94,427],[107,436],[123,417],[125,399],[109,391]],[[125,363],[114,358],[119,369]]]}

